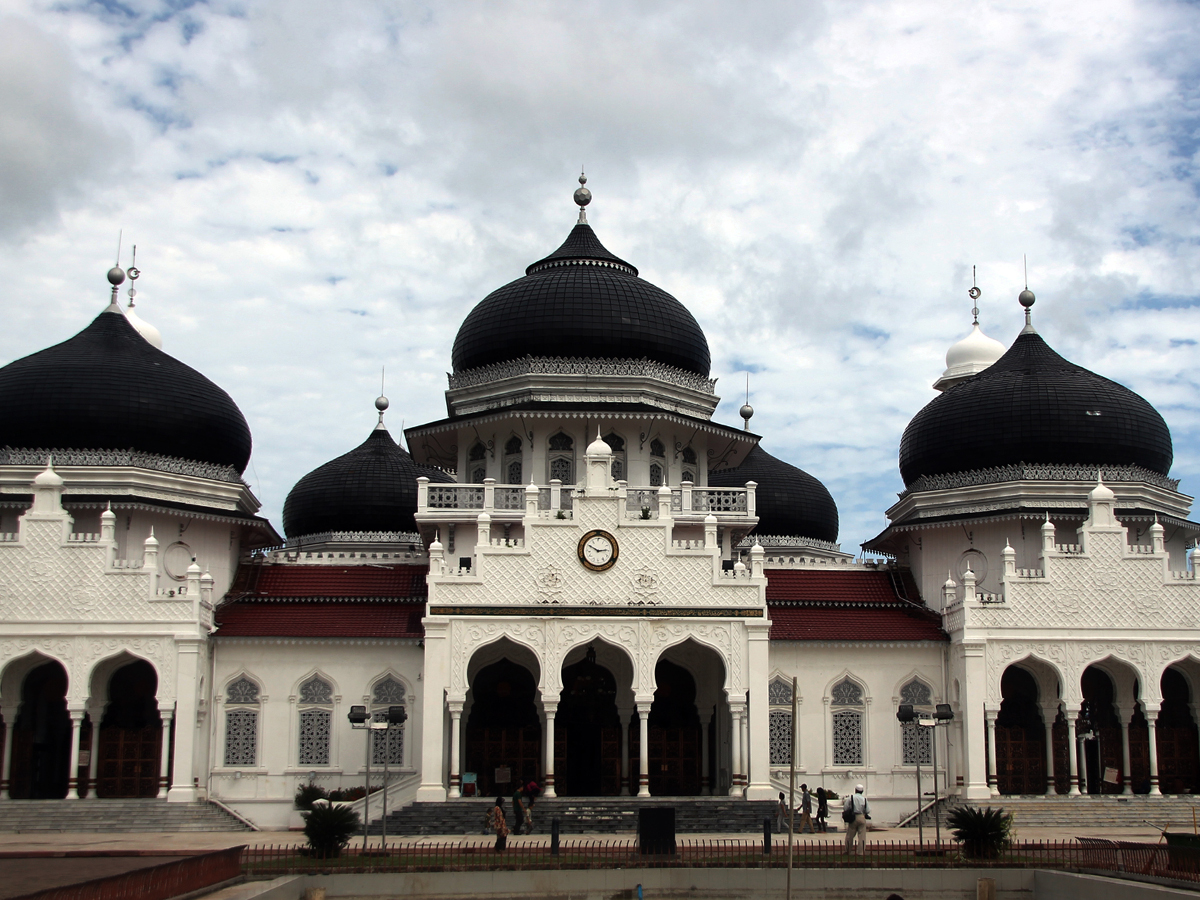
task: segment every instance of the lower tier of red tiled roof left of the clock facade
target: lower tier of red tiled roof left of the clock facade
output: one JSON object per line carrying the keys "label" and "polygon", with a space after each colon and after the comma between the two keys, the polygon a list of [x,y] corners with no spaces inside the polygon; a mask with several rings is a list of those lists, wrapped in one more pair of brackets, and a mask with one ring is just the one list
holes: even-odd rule
{"label": "lower tier of red tiled roof left of the clock facade", "polygon": [[217,608],[217,637],[424,637],[418,602],[238,600]]}

